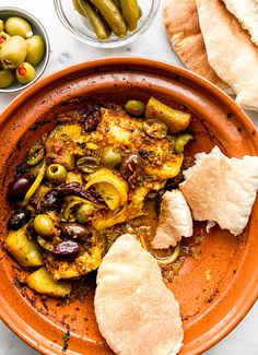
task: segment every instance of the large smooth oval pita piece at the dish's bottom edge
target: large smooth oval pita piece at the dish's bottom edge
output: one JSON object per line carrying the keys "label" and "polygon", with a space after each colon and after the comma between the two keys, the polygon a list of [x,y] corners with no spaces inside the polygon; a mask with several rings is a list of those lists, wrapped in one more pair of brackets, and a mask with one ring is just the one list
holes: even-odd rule
{"label": "large smooth oval pita piece at the dish's bottom edge", "polygon": [[97,272],[95,315],[119,355],[172,355],[181,346],[179,305],[156,260],[132,235],[120,236]]}

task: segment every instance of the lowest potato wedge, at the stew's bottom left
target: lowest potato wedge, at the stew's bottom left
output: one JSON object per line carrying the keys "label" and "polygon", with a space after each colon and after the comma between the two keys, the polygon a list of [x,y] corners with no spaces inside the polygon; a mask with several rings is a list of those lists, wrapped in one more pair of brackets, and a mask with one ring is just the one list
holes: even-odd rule
{"label": "lowest potato wedge, at the stew's bottom left", "polygon": [[67,297],[72,291],[71,283],[54,281],[46,268],[40,268],[27,276],[26,284],[38,294],[50,297]]}

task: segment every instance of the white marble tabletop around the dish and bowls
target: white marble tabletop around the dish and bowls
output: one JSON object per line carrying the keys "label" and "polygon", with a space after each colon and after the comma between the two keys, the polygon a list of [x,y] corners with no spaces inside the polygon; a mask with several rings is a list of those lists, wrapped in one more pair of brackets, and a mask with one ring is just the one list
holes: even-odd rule
{"label": "white marble tabletop around the dish and bowls", "polygon": [[[69,1],[69,0],[68,0]],[[50,36],[51,55],[45,75],[68,66],[99,57],[141,56],[181,66],[166,40],[162,24],[162,11],[149,32],[136,43],[119,49],[91,48],[73,38],[59,23],[51,0],[0,0],[0,7],[19,7],[36,15]],[[0,113],[15,95],[0,94]],[[250,115],[255,123],[258,115]],[[0,355],[36,355],[28,345],[17,339],[0,321]],[[245,319],[206,355],[258,355],[258,303]]]}

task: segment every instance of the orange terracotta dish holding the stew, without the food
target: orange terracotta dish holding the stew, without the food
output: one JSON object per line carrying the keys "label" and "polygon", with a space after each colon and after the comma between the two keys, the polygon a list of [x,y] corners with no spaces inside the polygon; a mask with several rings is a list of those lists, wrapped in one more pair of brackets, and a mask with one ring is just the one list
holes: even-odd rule
{"label": "orange terracotta dish holding the stew, without the food", "polygon": [[[4,250],[10,205],[7,187],[33,142],[55,123],[55,115],[87,100],[125,103],[150,95],[186,105],[194,115],[196,143],[188,154],[215,144],[228,156],[258,155],[258,132],[236,104],[200,76],[166,63],[140,58],[109,58],[57,72],[22,93],[1,115],[0,316],[20,338],[43,354],[60,354],[70,331],[67,354],[113,354],[101,336],[93,309],[94,288],[85,301],[61,306],[44,299],[17,281],[17,264]],[[225,336],[246,315],[258,295],[256,203],[241,238],[219,227],[202,234],[197,259],[188,257],[168,286],[180,304],[185,340],[180,354],[199,354]],[[207,271],[212,275],[208,281]]]}

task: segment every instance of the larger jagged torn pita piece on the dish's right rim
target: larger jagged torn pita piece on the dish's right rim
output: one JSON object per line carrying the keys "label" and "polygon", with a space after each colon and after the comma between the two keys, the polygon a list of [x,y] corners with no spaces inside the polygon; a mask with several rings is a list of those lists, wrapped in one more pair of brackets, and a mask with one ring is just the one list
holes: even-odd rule
{"label": "larger jagged torn pita piece on the dish's right rim", "polygon": [[179,189],[195,221],[215,222],[235,236],[244,230],[258,189],[258,156],[228,158],[215,146],[197,154],[184,176]]}

